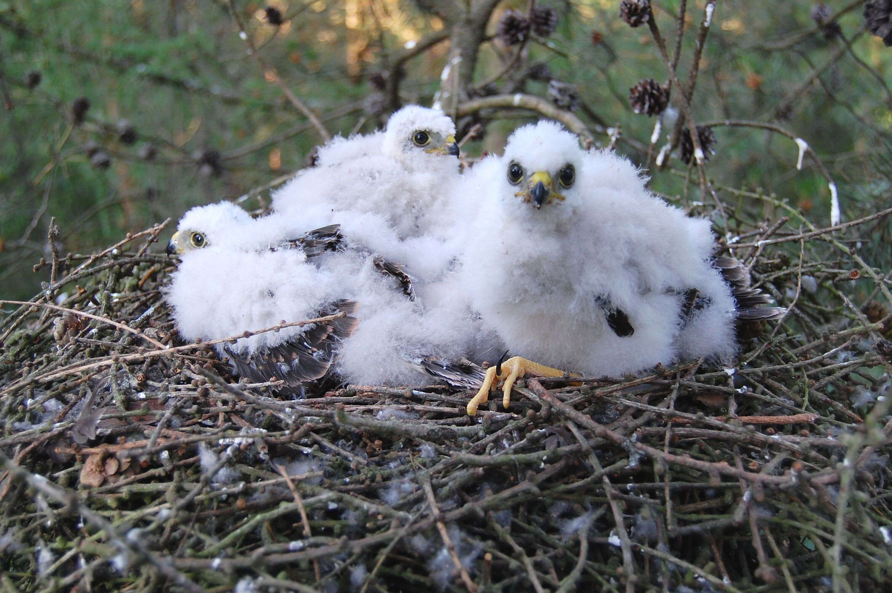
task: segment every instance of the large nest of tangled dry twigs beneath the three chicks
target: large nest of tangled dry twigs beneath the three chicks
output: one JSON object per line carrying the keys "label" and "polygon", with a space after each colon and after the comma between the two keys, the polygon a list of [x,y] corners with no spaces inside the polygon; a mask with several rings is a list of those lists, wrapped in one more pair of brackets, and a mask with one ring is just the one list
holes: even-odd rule
{"label": "large nest of tangled dry twigs beneath the three chicks", "polygon": [[725,204],[725,241],[790,311],[739,328],[735,367],[528,379],[477,418],[469,393],[439,386],[285,400],[240,383],[208,344],[178,342],[162,295],[173,265],[149,249],[163,225],[54,254],[36,305],[5,301],[0,324],[0,581],[880,590],[892,298],[858,254],[875,226],[818,233],[782,202],[740,197],[803,226]]}

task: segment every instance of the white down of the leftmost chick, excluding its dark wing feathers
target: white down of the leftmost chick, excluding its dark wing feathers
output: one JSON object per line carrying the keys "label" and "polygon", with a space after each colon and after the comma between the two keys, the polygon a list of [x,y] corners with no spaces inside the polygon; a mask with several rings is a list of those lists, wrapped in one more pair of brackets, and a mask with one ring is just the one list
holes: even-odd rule
{"label": "white down of the leftmost chick, excluding its dark wing feathers", "polygon": [[[417,358],[449,359],[463,353],[471,332],[469,316],[436,306],[424,309],[374,266],[376,253],[392,259],[387,250],[412,252],[418,261],[442,259],[434,247],[409,249],[379,218],[347,212],[337,218],[351,248],[310,261],[302,251],[281,244],[329,224],[324,213],[310,212],[300,222],[278,214],[252,220],[233,208],[223,202],[193,209],[179,225],[180,233],[207,236],[206,247],[182,255],[166,295],[186,340],[215,340],[310,319],[333,301],[351,300],[359,301],[354,314],[359,323],[340,345],[333,366],[345,382],[431,383],[412,364]],[[365,240],[372,244],[363,244]],[[227,348],[252,353],[303,331],[293,326],[255,334]],[[222,345],[217,348],[221,357],[227,355]]]}

